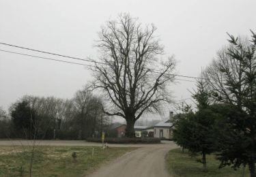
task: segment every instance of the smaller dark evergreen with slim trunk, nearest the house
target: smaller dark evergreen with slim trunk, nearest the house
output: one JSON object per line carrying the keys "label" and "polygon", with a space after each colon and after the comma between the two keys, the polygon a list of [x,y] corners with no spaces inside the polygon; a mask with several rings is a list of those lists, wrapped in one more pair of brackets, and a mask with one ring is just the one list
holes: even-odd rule
{"label": "smaller dark evergreen with slim trunk, nearest the house", "polygon": [[216,114],[210,109],[210,92],[203,80],[198,81],[193,98],[197,101],[197,112],[187,112],[186,116],[180,118],[173,136],[178,145],[188,148],[190,152],[201,153],[202,159],[199,161],[203,163],[203,170],[207,171],[206,155],[214,151],[212,134]]}

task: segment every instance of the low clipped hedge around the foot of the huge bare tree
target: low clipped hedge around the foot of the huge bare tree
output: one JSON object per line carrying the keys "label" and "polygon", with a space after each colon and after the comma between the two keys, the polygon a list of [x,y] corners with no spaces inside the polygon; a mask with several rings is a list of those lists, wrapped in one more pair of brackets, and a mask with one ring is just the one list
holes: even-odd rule
{"label": "low clipped hedge around the foot of the huge bare tree", "polygon": [[[102,142],[101,138],[87,138],[87,142]],[[111,144],[158,144],[159,138],[105,138]]]}

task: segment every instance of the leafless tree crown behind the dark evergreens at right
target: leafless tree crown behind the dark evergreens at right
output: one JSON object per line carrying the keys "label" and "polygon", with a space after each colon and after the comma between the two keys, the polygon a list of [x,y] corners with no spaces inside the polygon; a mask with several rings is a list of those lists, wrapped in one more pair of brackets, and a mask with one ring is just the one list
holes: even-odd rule
{"label": "leafless tree crown behind the dark evergreens at right", "polygon": [[218,102],[228,102],[242,109],[242,95],[246,88],[245,68],[243,61],[233,59],[228,50],[233,50],[233,46],[220,50],[217,59],[212,61],[203,76]]}

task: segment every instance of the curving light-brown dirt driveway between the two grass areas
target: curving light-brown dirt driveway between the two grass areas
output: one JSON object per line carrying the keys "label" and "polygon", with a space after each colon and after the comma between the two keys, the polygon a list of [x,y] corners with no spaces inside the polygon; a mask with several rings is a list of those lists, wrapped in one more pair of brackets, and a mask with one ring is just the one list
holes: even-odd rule
{"label": "curving light-brown dirt driveway between the two grass areas", "polygon": [[169,177],[165,155],[173,143],[142,147],[115,159],[88,177]]}

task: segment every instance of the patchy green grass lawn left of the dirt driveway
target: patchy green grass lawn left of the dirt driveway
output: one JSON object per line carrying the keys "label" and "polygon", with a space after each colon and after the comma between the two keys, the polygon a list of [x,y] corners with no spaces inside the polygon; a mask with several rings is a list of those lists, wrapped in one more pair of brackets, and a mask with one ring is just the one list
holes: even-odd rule
{"label": "patchy green grass lawn left of the dirt driveway", "polygon": [[[134,148],[106,148],[81,146],[36,146],[33,176],[85,176],[100,165],[124,155]],[[76,163],[72,159],[76,152]],[[0,176],[29,176],[31,147],[0,146]],[[21,168],[22,167],[22,168]]]}

